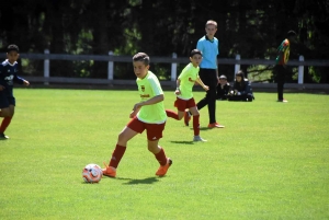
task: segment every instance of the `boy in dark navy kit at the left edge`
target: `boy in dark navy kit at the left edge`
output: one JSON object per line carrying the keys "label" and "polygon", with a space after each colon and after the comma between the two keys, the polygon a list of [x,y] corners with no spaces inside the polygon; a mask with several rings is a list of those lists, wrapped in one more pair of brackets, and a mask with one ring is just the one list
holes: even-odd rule
{"label": "boy in dark navy kit at the left edge", "polygon": [[4,135],[4,130],[14,115],[15,97],[13,96],[13,83],[30,84],[29,81],[16,74],[19,57],[19,47],[9,45],[7,49],[8,59],[0,63],[0,117],[3,117],[0,125],[0,140],[9,138]]}

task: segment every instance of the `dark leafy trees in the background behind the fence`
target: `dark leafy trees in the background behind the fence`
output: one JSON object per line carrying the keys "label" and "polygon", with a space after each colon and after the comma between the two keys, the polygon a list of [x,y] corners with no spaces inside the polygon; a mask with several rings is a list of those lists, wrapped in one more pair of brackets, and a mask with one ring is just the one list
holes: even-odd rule
{"label": "dark leafy trees in the background behind the fence", "polygon": [[[327,0],[16,0],[0,2],[0,47],[18,44],[24,53],[94,54],[186,57],[205,34],[209,19],[217,21],[216,37],[223,58],[274,59],[288,30],[298,42],[292,59],[329,59]],[[30,66],[39,67],[38,61]],[[26,69],[37,69],[29,67]],[[52,72],[66,77],[105,78],[106,62],[72,63],[56,60]],[[158,67],[160,68],[160,67]],[[230,67],[219,67],[222,72]],[[248,66],[242,67],[245,71]],[[42,70],[37,70],[39,72]],[[328,68],[306,69],[305,82],[329,82]],[[124,69],[117,74],[124,78]],[[162,73],[161,73],[162,74]],[[292,72],[293,74],[293,72]]]}

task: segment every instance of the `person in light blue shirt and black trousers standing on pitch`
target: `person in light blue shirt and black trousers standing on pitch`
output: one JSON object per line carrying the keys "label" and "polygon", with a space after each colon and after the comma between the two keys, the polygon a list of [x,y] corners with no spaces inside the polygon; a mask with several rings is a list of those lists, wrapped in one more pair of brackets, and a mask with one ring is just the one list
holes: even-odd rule
{"label": "person in light blue shirt and black trousers standing on pitch", "polygon": [[[198,39],[196,49],[203,54],[203,60],[200,65],[200,78],[208,85],[209,90],[206,92],[204,99],[197,104],[197,109],[208,106],[209,124],[208,128],[224,128],[223,125],[216,121],[216,91],[219,83],[217,69],[217,55],[219,54],[219,42],[215,37],[217,32],[217,22],[209,20],[205,25],[206,35]],[[188,114],[185,114],[188,116]],[[186,121],[186,118],[185,118]],[[186,124],[186,123],[185,123]]]}

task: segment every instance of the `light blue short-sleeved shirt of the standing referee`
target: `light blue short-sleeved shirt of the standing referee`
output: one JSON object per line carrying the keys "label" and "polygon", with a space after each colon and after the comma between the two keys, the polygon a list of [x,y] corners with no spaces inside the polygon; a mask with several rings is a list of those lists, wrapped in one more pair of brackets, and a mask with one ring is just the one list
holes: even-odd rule
{"label": "light blue short-sleeved shirt of the standing referee", "polygon": [[218,46],[219,42],[216,37],[214,37],[213,40],[209,40],[207,36],[203,36],[198,39],[196,49],[202,51],[203,57],[200,68],[217,69]]}

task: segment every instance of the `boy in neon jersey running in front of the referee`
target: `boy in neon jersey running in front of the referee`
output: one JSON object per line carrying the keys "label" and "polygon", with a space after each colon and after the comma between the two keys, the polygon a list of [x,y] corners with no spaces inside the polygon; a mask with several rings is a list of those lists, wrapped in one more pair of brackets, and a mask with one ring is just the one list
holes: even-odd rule
{"label": "boy in neon jersey running in front of the referee", "polygon": [[[202,80],[198,77],[198,65],[201,60],[202,53],[198,49],[193,49],[190,55],[191,62],[183,69],[183,71],[177,80],[177,90],[174,91],[177,100],[174,102],[174,106],[178,108],[178,113],[174,113],[170,109],[166,109],[168,117],[172,117],[177,120],[180,120],[189,114],[189,112],[185,112],[185,109],[189,108],[189,111],[193,115],[193,141],[206,141],[200,137],[200,114],[192,93],[192,89],[195,82],[197,82],[205,91],[209,89],[202,82]],[[185,124],[186,123],[189,123],[189,119],[188,121],[185,121]]]}

